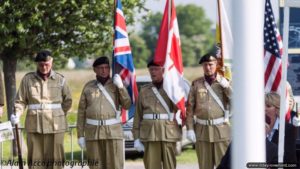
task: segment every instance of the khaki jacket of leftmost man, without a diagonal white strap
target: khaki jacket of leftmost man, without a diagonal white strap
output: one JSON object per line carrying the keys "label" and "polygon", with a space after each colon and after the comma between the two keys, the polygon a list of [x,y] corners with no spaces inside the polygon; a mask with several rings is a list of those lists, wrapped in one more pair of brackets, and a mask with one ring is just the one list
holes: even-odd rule
{"label": "khaki jacket of leftmost man, without a diagonal white strap", "polygon": [[67,129],[66,114],[72,106],[69,87],[63,75],[51,70],[44,81],[36,73],[26,74],[15,99],[15,112],[22,114],[30,104],[61,104],[61,109],[27,110],[25,129],[31,133],[60,133]]}

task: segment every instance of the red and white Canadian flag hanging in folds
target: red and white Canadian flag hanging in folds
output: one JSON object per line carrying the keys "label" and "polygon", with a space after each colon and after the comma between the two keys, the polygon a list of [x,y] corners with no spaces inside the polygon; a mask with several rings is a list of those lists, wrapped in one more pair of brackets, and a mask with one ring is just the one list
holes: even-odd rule
{"label": "red and white Canadian flag hanging in folds", "polygon": [[[169,98],[181,110],[181,118],[184,122],[186,117],[185,100],[187,98],[185,98],[182,54],[174,0],[171,0],[170,12],[168,11],[169,5],[169,0],[167,0],[160,25],[154,62],[165,68],[163,88]],[[171,14],[170,17],[169,13]],[[170,23],[168,24],[169,18]]]}

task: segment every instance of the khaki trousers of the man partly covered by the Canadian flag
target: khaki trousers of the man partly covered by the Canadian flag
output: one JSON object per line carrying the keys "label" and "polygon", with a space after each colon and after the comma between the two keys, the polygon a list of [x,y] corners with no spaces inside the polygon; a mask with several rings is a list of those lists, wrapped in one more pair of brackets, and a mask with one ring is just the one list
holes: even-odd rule
{"label": "khaki trousers of the man partly covered by the Canadian flag", "polygon": [[176,142],[149,141],[143,144],[146,169],[176,168]]}

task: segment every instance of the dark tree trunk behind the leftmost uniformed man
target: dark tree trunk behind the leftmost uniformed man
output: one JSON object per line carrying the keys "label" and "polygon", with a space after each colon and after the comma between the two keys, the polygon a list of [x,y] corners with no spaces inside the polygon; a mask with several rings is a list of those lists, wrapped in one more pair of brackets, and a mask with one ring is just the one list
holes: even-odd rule
{"label": "dark tree trunk behind the leftmost uniformed man", "polygon": [[[10,115],[14,113],[14,101],[16,96],[16,68],[17,59],[15,57],[5,56],[3,60],[3,74],[4,84],[6,92],[6,107],[7,107],[7,118],[10,120]],[[22,137],[21,137],[22,138]],[[16,140],[13,140],[13,155],[17,155]]]}

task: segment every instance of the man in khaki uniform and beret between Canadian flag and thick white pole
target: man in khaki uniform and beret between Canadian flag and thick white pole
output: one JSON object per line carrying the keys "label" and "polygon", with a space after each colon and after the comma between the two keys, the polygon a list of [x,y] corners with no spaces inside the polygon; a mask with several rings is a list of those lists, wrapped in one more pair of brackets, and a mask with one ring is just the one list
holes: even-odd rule
{"label": "man in khaki uniform and beret between Canadian flag and thick white pole", "polygon": [[187,105],[187,138],[196,142],[199,167],[213,169],[219,165],[231,137],[227,111],[231,87],[216,73],[214,55],[204,55],[199,63],[205,75],[192,82]]}

